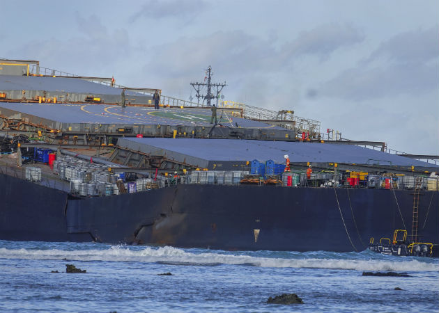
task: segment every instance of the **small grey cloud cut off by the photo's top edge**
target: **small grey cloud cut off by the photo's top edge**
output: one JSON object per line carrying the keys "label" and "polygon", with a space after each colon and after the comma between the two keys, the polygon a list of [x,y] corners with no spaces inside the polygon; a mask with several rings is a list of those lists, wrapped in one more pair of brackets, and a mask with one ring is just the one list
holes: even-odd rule
{"label": "small grey cloud cut off by the photo's top edge", "polygon": [[203,0],[148,0],[142,8],[132,15],[132,21],[141,17],[162,19],[167,17],[194,17],[206,10],[209,3]]}

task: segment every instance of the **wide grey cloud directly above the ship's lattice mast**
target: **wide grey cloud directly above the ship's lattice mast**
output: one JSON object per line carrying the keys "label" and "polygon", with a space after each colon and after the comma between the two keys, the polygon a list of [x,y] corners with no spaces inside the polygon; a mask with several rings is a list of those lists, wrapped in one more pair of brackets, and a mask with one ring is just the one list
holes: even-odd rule
{"label": "wide grey cloud directly above the ship's lattice mast", "polygon": [[150,55],[153,61],[145,70],[181,76],[208,65],[228,74],[260,72],[275,60],[276,51],[269,42],[242,31],[219,31],[153,47]]}

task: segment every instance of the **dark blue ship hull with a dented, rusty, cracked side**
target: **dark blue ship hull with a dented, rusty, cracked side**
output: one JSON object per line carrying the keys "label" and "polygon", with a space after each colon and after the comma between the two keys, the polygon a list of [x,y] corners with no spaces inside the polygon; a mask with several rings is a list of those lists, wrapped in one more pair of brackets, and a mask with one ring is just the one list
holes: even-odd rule
{"label": "dark blue ship hull with a dented, rusty, cracked side", "polygon": [[[413,191],[179,184],[102,198],[0,174],[0,239],[147,243],[224,250],[367,249],[407,229]],[[439,242],[439,193],[419,198],[419,240]]]}

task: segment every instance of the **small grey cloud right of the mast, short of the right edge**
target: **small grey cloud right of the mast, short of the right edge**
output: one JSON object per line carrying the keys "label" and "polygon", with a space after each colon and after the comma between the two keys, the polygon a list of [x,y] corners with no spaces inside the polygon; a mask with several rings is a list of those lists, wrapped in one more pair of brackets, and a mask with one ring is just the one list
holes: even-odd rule
{"label": "small grey cloud right of the mast, short of the right edge", "polygon": [[284,57],[315,55],[324,60],[332,52],[364,40],[364,34],[351,24],[323,24],[302,31],[298,38],[284,45]]}

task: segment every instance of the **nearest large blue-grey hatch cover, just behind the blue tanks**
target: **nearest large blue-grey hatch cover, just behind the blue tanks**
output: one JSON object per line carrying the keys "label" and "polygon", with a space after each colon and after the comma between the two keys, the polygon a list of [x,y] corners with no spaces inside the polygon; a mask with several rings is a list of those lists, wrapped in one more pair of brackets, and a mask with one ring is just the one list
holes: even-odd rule
{"label": "nearest large blue-grey hatch cover, just behind the blue tanks", "polygon": [[[310,162],[328,168],[329,163],[344,163],[349,168],[393,169],[439,168],[423,161],[359,147],[331,143],[303,143],[286,141],[254,141],[199,138],[118,138],[118,149],[146,155],[162,156],[176,163],[195,167],[233,170],[249,161],[285,163],[288,154],[291,163],[306,165]],[[125,155],[125,154],[123,154]]]}

